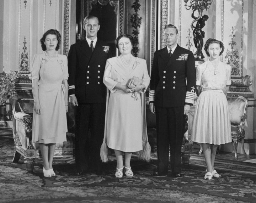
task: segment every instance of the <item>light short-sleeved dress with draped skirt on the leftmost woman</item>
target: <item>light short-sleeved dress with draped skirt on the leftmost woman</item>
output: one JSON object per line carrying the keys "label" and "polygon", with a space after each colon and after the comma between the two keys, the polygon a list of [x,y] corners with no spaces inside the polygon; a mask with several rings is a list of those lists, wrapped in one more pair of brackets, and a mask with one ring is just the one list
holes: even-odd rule
{"label": "light short-sleeved dress with draped skirt on the leftmost woman", "polygon": [[31,79],[39,79],[38,97],[41,114],[33,113],[32,141],[61,143],[66,141],[67,121],[65,86],[68,59],[65,55],[48,58],[46,52],[34,56]]}

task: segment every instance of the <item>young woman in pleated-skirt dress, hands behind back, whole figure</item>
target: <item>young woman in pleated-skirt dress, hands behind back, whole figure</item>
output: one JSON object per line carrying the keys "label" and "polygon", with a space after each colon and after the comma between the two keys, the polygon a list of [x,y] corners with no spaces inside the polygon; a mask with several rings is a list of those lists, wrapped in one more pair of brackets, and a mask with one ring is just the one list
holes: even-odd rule
{"label": "young woman in pleated-skirt dress, hands behind back, whole figure", "polygon": [[199,95],[192,125],[192,141],[202,143],[207,170],[204,179],[221,177],[214,169],[217,145],[231,142],[231,126],[226,94],[231,84],[231,66],[220,61],[221,41],[208,39],[204,46],[209,60],[196,68]]}

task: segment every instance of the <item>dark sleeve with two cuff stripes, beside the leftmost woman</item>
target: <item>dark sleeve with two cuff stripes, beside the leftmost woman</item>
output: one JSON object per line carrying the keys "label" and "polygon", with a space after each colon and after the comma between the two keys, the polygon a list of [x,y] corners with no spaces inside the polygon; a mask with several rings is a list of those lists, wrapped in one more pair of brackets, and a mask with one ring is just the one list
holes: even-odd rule
{"label": "dark sleeve with two cuff stripes, beside the leftmost woman", "polygon": [[68,85],[69,85],[69,96],[75,95],[75,75],[76,75],[76,49],[75,44],[70,46],[68,53]]}

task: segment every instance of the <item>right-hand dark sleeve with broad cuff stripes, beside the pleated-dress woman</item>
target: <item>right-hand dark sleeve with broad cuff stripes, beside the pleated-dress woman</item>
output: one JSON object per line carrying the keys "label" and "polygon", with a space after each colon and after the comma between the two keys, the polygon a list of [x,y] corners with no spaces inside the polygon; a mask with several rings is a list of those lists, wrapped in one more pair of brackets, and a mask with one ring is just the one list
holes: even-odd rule
{"label": "right-hand dark sleeve with broad cuff stripes, beside the pleated-dress woman", "polygon": [[187,92],[186,92],[185,104],[193,105],[194,98],[195,98],[195,86],[196,86],[196,68],[195,68],[194,56],[191,51],[188,53],[186,78],[187,78]]}

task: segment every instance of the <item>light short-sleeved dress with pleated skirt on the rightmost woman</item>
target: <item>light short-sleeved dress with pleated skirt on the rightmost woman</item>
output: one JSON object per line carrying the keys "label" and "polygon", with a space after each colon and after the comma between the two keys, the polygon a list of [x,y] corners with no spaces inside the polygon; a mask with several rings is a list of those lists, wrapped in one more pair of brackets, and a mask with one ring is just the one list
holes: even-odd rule
{"label": "light short-sleeved dress with pleated skirt on the rightmost woman", "polygon": [[191,140],[220,145],[231,142],[229,108],[223,93],[231,84],[231,67],[219,62],[216,68],[208,60],[196,68],[196,85],[201,85],[194,112]]}

